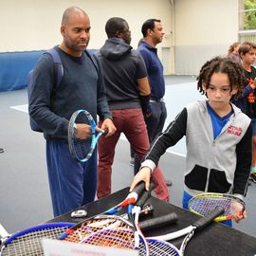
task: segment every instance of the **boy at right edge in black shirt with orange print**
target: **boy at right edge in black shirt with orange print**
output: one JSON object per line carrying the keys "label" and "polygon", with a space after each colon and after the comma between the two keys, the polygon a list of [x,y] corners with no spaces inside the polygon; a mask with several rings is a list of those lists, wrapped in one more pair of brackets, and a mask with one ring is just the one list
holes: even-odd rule
{"label": "boy at right edge in black shirt with orange print", "polygon": [[245,75],[243,94],[240,99],[233,101],[241,110],[247,114],[252,121],[252,157],[249,179],[256,183],[256,45],[245,42],[238,50],[242,60]]}

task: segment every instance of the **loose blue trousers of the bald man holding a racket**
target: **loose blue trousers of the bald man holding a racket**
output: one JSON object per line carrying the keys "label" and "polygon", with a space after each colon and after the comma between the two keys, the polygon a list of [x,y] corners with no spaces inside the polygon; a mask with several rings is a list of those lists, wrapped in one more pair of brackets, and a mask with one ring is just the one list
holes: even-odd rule
{"label": "loose blue trousers of the bald man holding a racket", "polygon": [[97,150],[80,163],[72,158],[66,142],[46,140],[46,161],[54,217],[94,201]]}

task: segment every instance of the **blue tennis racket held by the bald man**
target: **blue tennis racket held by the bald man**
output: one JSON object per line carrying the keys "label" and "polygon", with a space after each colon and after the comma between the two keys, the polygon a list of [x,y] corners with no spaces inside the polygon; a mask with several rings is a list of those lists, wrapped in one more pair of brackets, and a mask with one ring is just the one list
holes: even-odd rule
{"label": "blue tennis racket held by the bald man", "polygon": [[[76,125],[85,124],[90,126],[91,136],[80,139],[76,137]],[[105,129],[104,134],[107,133]],[[94,152],[98,139],[103,133],[96,131],[96,123],[91,114],[86,110],[77,110],[71,116],[68,123],[68,147],[72,157],[79,162],[86,162]]]}

